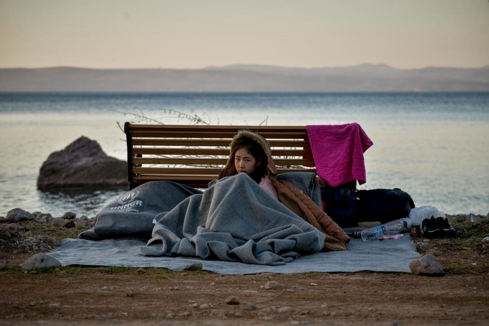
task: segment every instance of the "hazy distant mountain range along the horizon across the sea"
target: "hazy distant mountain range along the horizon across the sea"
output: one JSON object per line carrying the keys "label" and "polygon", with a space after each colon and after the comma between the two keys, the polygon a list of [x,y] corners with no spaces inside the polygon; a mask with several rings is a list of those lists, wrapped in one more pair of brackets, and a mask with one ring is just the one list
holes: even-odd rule
{"label": "hazy distant mountain range along the horizon across the sea", "polygon": [[488,92],[489,66],[202,69],[0,69],[0,92]]}

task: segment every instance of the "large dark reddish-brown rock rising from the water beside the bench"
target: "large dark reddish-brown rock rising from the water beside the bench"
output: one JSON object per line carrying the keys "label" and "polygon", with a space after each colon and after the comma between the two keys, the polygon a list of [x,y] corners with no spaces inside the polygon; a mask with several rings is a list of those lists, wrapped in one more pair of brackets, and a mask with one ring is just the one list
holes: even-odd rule
{"label": "large dark reddish-brown rock rising from the water beside the bench", "polygon": [[127,186],[127,162],[109,157],[100,145],[80,137],[43,163],[37,189]]}

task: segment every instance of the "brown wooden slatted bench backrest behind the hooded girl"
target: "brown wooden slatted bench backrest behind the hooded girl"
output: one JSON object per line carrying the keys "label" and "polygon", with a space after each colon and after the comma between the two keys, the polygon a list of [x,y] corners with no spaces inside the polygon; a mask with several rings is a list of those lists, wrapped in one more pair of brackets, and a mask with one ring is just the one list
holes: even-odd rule
{"label": "brown wooden slatted bench backrest behind the hooded girl", "polygon": [[140,125],[126,122],[129,189],[170,180],[204,189],[217,179],[239,129],[270,142],[279,173],[316,172],[305,126]]}

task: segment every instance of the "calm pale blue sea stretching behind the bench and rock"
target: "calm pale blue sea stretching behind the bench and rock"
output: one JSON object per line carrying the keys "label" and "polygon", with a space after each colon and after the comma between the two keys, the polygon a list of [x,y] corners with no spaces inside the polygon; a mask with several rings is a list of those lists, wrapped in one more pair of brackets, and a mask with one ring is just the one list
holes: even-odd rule
{"label": "calm pale blue sea stretching behind the bench and rock", "polygon": [[0,216],[95,216],[126,189],[38,191],[43,162],[80,136],[126,159],[117,123],[189,123],[172,110],[219,125],[356,122],[374,142],[359,189],[401,188],[445,214],[489,212],[489,93],[0,93]]}

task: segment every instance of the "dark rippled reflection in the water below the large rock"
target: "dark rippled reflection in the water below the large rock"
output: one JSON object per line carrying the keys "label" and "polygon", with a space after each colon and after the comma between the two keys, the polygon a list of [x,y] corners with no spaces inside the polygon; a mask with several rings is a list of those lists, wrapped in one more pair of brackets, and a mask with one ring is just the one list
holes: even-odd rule
{"label": "dark rippled reflection in the water below the large rock", "polygon": [[53,217],[61,217],[66,212],[76,213],[76,216],[95,217],[110,201],[128,191],[126,187],[104,189],[56,189],[38,190],[37,196],[43,213]]}

